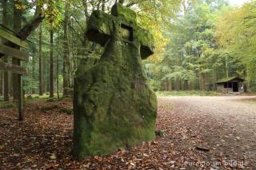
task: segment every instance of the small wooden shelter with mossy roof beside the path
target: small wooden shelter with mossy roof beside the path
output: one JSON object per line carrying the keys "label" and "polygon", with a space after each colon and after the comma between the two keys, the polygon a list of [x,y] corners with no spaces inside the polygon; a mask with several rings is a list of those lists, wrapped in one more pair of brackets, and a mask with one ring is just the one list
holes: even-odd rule
{"label": "small wooden shelter with mossy roof beside the path", "polygon": [[222,78],[217,82],[217,91],[222,93],[243,93],[244,79],[240,77]]}

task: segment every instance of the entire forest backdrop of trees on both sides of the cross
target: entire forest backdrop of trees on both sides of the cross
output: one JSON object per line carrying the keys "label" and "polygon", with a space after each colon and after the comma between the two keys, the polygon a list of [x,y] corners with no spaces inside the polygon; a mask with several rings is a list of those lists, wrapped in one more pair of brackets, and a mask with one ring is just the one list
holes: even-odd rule
{"label": "entire forest backdrop of trees on both sides of the cross", "polygon": [[[14,11],[21,16],[21,29],[38,19],[34,29],[19,35],[30,42],[25,49],[30,61],[22,64],[30,69],[23,78],[26,93],[67,95],[72,91],[79,63],[90,68],[103,51],[86,38],[86,22],[93,10],[110,14],[115,2],[1,2],[0,20],[5,29],[14,30]],[[230,6],[227,0],[126,0],[123,5],[135,10],[138,24],[154,34],[156,53],[143,61],[154,90],[215,90],[218,80],[225,77],[242,77],[246,90],[256,89],[256,2]],[[3,84],[1,89],[4,93]]]}

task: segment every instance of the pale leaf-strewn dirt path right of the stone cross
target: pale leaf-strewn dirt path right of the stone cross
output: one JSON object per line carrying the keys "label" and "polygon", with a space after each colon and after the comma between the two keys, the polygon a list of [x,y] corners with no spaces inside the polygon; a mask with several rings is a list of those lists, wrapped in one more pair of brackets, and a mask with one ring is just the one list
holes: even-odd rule
{"label": "pale leaf-strewn dirt path right of the stone cross", "polygon": [[[179,150],[188,149],[182,161],[189,165],[186,169],[199,163],[211,169],[256,169],[256,105],[241,102],[251,98],[256,97],[159,97],[162,109],[174,109],[172,125],[158,128],[174,132],[169,137]],[[158,117],[161,120],[162,114]],[[210,152],[197,151],[196,146]]]}

